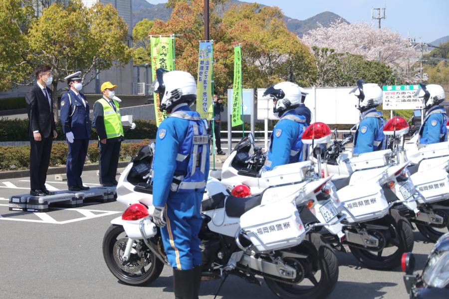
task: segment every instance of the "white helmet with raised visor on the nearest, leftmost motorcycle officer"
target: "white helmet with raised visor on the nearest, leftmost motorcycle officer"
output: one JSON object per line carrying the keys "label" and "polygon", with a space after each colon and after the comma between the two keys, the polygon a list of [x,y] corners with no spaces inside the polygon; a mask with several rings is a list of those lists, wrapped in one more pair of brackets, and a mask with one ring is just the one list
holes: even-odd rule
{"label": "white helmet with raised visor on the nearest, leftmost motorcycle officer", "polygon": [[192,105],[197,99],[197,82],[190,73],[182,70],[158,68],[151,90],[159,93],[161,111],[171,111],[181,103]]}

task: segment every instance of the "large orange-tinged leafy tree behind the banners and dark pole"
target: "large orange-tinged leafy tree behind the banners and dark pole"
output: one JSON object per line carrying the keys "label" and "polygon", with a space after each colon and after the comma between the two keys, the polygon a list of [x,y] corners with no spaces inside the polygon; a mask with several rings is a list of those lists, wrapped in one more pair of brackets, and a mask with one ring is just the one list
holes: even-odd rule
{"label": "large orange-tinged leafy tree behind the banners and dark pole", "polygon": [[[211,1],[210,32],[214,40],[214,88],[232,88],[233,46],[242,46],[243,87],[267,87],[292,80],[310,85],[316,74],[309,49],[288,29],[276,7],[232,5],[219,15],[225,0]],[[155,20],[148,34],[177,34],[176,68],[197,75],[198,40],[204,39],[204,1],[173,0],[167,21]],[[219,10],[219,11],[218,11]]]}

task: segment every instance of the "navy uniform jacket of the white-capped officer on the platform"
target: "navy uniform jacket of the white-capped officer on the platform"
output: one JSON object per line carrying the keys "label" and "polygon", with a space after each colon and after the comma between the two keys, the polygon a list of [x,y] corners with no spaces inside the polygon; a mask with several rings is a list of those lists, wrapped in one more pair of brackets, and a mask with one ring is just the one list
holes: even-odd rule
{"label": "navy uniform jacket of the white-capped officer on the platform", "polygon": [[[80,97],[84,99],[86,107]],[[77,96],[71,89],[64,93],[61,98],[61,124],[62,132],[72,132],[74,139],[90,138],[89,104],[84,94],[78,93]]]}

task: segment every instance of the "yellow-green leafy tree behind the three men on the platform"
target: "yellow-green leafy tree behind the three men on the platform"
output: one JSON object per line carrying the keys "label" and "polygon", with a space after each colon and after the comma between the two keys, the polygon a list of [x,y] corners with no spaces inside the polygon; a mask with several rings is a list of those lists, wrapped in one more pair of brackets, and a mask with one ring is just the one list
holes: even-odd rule
{"label": "yellow-green leafy tree behind the three men on the platform", "polygon": [[127,24],[110,4],[97,2],[86,7],[80,0],[72,0],[67,6],[52,4],[35,17],[33,2],[1,1],[0,20],[9,20],[0,23],[0,32],[11,32],[1,40],[1,44],[7,43],[1,50],[15,51],[15,55],[0,58],[0,82],[3,89],[30,85],[34,67],[49,64],[57,120],[57,96],[65,89],[58,90],[57,84],[67,74],[81,70],[86,85],[101,70],[129,62],[132,49],[125,42]]}

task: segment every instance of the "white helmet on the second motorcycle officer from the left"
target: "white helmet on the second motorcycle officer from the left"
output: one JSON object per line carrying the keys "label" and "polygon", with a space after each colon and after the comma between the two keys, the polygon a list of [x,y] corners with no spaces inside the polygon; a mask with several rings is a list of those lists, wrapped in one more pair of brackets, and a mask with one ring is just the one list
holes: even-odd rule
{"label": "white helmet on the second motorcycle officer from the left", "polygon": [[[294,109],[301,104],[302,90],[298,84],[280,82],[268,87],[263,93],[263,96],[276,101],[273,105],[273,113],[280,118],[285,111]],[[304,98],[306,94],[304,94]]]}

